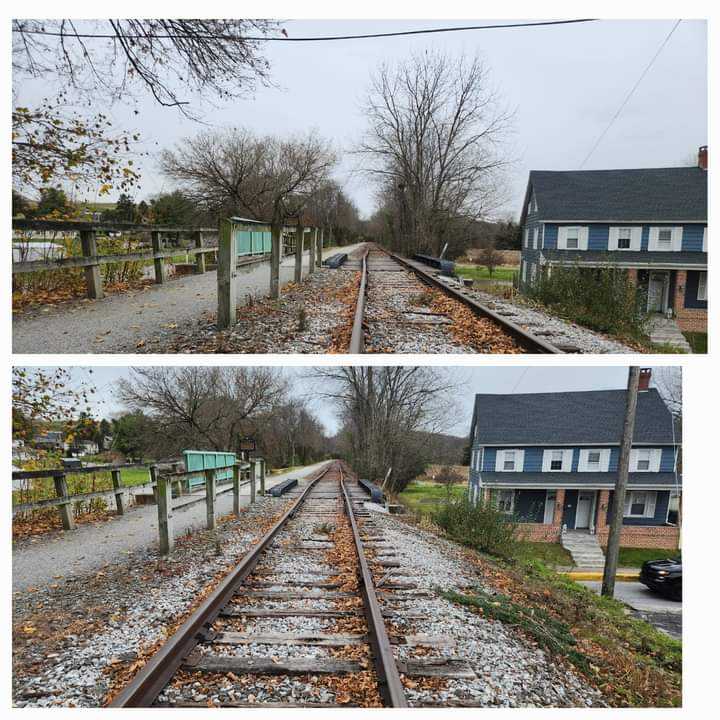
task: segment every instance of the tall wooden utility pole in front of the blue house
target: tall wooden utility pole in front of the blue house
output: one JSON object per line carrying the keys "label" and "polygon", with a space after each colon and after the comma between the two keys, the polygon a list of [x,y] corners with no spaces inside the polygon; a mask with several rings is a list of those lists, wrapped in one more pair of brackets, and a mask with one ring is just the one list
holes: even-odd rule
{"label": "tall wooden utility pole in front of the blue house", "polygon": [[620,553],[620,533],[622,532],[623,515],[625,514],[625,491],[627,488],[628,471],[630,468],[630,451],[635,431],[635,411],[637,410],[637,394],[640,382],[640,368],[631,366],[628,373],[627,399],[625,401],[625,422],[623,424],[618,475],[613,494],[612,518],[610,534],[605,553],[605,570],[603,571],[602,594],[606,597],[615,596],[615,575],[617,574],[618,555]]}

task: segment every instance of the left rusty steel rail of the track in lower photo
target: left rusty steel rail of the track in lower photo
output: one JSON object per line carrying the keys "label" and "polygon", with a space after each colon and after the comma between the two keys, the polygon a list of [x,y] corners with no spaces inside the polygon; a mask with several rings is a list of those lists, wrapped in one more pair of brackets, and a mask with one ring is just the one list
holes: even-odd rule
{"label": "left rusty steel rail of the track in lower photo", "polygon": [[288,520],[297,513],[316,483],[335,467],[334,463],[329,464],[310,482],[293,506],[283,514],[260,542],[243,557],[240,563],[223,578],[215,590],[148,660],[131,682],[113,698],[108,707],[150,707],[152,705],[180,668],[183,660],[198,643],[206,638],[210,626],[215,622],[225,605],[230,602],[238,587],[255,569],[267,546]]}

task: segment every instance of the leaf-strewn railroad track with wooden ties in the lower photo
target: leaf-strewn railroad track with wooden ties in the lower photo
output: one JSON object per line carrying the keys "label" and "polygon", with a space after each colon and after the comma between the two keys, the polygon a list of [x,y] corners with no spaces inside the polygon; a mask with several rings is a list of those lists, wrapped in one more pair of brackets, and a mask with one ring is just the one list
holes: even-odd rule
{"label": "leaf-strewn railroad track with wooden ties in the lower photo", "polygon": [[[382,538],[366,499],[339,462],[297,488],[110,707],[407,707],[392,645],[408,638],[386,628],[393,613],[373,581]],[[382,589],[386,600],[405,591]],[[422,676],[422,660],[403,670]]]}

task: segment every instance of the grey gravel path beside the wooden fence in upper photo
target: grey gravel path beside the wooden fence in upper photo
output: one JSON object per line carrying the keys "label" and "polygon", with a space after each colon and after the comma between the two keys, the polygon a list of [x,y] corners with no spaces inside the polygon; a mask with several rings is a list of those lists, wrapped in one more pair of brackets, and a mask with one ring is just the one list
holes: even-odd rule
{"label": "grey gravel path beside the wooden fence in upper photo", "polygon": [[[349,252],[356,245],[343,248]],[[323,250],[323,257],[337,248]],[[306,253],[307,255],[307,253]],[[306,266],[307,263],[304,263]],[[283,260],[280,281],[290,282],[294,257]],[[239,270],[238,301],[265,295],[270,264]],[[186,275],[164,285],[108,295],[102,300],[75,300],[28,310],[13,318],[15,353],[134,353],[145,347],[172,343],[183,327],[217,312],[217,273]]]}

